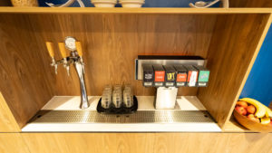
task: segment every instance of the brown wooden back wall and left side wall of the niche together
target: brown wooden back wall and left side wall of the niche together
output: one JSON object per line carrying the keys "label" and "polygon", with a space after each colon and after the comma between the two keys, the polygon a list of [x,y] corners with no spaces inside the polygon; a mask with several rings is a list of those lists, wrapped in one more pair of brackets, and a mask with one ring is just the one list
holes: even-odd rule
{"label": "brown wooden back wall and left side wall of the niche together", "polygon": [[[74,36],[83,43],[88,95],[106,84],[131,83],[137,95],[154,95],[134,80],[139,54],[206,57],[216,14],[0,14],[0,91],[19,127],[53,95],[80,95],[73,68],[55,75],[45,41]],[[186,41],[184,41],[186,40]],[[180,88],[196,95],[198,88]]]}

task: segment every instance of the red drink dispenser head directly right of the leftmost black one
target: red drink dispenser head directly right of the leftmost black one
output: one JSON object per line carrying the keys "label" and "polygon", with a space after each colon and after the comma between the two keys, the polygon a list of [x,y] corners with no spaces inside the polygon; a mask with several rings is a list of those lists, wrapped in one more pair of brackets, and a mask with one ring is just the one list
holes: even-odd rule
{"label": "red drink dispenser head directly right of the leftmost black one", "polygon": [[154,70],[154,86],[163,87],[165,81],[165,71],[162,65],[155,64],[153,65]]}

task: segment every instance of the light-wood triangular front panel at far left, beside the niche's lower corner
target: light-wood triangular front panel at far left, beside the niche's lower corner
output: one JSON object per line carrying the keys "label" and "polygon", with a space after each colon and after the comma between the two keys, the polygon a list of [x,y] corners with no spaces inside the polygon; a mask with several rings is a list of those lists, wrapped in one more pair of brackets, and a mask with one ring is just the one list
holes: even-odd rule
{"label": "light-wood triangular front panel at far left, beside the niche's lower corner", "polygon": [[0,92],[0,132],[17,132],[21,131],[15,117],[9,107],[7,106],[5,99]]}

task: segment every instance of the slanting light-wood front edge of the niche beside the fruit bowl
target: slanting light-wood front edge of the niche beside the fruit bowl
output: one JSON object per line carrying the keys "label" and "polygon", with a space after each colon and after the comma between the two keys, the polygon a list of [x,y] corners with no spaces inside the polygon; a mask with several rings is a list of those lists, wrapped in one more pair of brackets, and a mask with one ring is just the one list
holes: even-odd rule
{"label": "slanting light-wood front edge of the niche beside the fruit bowl", "polygon": [[[243,88],[244,88],[244,86],[246,84],[246,81],[248,80],[249,72],[251,71],[251,69],[253,67],[253,64],[254,64],[254,62],[255,62],[255,60],[257,58],[257,54],[258,54],[258,52],[259,52],[259,50],[260,50],[260,48],[261,48],[261,46],[262,46],[262,44],[263,44],[266,36],[267,36],[267,32],[268,32],[268,30],[270,28],[271,22],[272,22],[272,14],[270,14],[270,16],[268,18],[268,21],[267,21],[267,24],[265,26],[265,29],[264,29],[264,31],[263,31],[260,39],[259,39],[259,42],[257,43],[257,48],[255,50],[255,53],[253,54],[253,57],[252,57],[252,59],[249,62],[248,70],[247,70],[246,74],[244,75],[243,81],[240,83],[240,87],[238,89],[238,92],[237,92],[237,95],[235,97],[235,100],[233,101],[231,109],[228,112],[227,121],[230,119],[230,117],[232,115],[232,111],[235,108],[235,104],[236,104],[236,102],[237,102],[237,100],[238,100],[238,98],[239,98],[239,96],[241,94],[241,91],[243,90]],[[221,127],[221,129],[224,130],[224,128],[225,128],[225,124],[223,124],[223,126]]]}

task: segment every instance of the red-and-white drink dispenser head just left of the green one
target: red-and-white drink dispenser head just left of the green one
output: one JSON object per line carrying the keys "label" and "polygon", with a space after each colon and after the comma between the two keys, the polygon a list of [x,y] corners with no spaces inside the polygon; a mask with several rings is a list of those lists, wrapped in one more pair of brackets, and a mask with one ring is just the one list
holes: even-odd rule
{"label": "red-and-white drink dispenser head just left of the green one", "polygon": [[193,65],[184,65],[188,70],[187,86],[197,87],[199,71]]}

